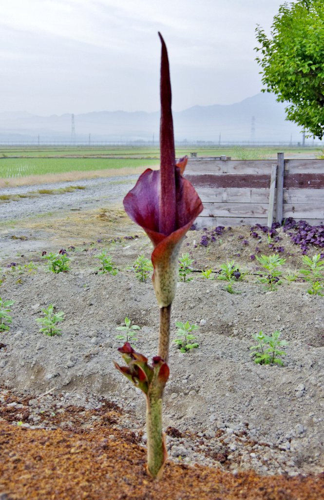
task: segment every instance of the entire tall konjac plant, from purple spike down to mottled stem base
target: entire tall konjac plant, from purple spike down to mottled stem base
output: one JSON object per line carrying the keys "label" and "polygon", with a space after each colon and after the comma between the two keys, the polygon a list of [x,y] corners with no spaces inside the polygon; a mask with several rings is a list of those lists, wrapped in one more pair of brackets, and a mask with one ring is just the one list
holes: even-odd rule
{"label": "entire tall konjac plant, from purple spike down to mottled stem base", "polygon": [[153,365],[127,343],[119,350],[128,366],[116,367],[146,395],[147,470],[160,478],[166,460],[162,432],[162,396],[168,379],[171,304],[178,282],[179,250],[186,232],[203,209],[192,184],[182,174],[187,157],[175,160],[171,84],[167,48],[161,54],[160,170],[148,168],[124,198],[128,216],[139,224],[153,244],[153,287],[160,307],[159,351]]}

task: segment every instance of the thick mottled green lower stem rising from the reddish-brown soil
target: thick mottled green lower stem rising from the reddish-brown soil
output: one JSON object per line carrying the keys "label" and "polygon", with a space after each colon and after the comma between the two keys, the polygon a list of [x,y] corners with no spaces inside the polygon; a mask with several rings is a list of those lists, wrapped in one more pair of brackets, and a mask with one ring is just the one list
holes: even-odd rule
{"label": "thick mottled green lower stem rising from the reddish-brown soil", "polygon": [[161,384],[152,380],[146,395],[146,434],[147,434],[147,471],[159,479],[163,473],[167,451],[162,431],[162,392]]}

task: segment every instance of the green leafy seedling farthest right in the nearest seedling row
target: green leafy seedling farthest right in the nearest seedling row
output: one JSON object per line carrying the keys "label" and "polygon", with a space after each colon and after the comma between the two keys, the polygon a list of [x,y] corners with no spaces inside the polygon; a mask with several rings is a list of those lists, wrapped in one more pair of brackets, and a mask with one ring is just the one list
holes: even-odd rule
{"label": "green leafy seedling farthest right in the nearest seedling row", "polygon": [[284,364],[280,357],[285,356],[287,352],[281,347],[288,345],[289,342],[279,339],[279,330],[274,331],[272,336],[265,335],[262,330],[252,336],[257,343],[250,347],[253,351],[251,356],[257,364]]}

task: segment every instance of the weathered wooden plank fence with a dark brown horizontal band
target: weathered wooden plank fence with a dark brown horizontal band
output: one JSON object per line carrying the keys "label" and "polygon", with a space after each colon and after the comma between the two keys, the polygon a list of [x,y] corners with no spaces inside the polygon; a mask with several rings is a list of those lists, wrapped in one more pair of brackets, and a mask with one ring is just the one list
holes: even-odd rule
{"label": "weathered wooden plank fence with a dark brown horizontal band", "polygon": [[271,225],[293,217],[324,224],[324,160],[191,158],[185,177],[204,205],[198,227]]}

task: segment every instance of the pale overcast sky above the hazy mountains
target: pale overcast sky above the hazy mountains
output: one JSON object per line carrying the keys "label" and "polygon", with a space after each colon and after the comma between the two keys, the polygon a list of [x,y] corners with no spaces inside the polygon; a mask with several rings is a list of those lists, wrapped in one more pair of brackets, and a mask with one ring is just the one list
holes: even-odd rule
{"label": "pale overcast sky above the hazy mountains", "polygon": [[173,109],[262,88],[255,28],[284,0],[2,0],[0,111],[159,110],[161,31]]}

